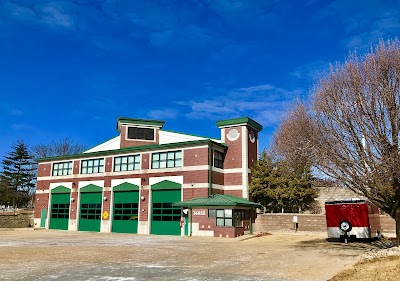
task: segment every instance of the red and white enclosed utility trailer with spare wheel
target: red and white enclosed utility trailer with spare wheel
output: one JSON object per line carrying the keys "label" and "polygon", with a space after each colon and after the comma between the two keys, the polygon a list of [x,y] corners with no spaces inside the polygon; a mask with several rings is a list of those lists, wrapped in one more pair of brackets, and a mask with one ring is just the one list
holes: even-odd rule
{"label": "red and white enclosed utility trailer with spare wheel", "polygon": [[325,202],[328,238],[380,238],[379,209],[365,200]]}

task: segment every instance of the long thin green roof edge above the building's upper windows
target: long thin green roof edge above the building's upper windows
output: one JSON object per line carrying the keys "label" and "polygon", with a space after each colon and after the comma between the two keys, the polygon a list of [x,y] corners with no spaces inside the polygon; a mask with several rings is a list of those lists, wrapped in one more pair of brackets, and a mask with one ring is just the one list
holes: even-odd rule
{"label": "long thin green roof edge above the building's upper windows", "polygon": [[140,152],[140,151],[153,151],[153,150],[163,150],[163,149],[179,149],[180,147],[186,146],[197,146],[202,144],[216,145],[226,149],[228,146],[224,143],[218,143],[210,139],[205,140],[195,140],[195,141],[185,141],[185,142],[175,142],[166,144],[150,144],[150,145],[140,145],[140,146],[130,146],[120,149],[95,151],[88,153],[80,153],[66,156],[48,157],[37,159],[37,162],[53,161],[53,160],[65,160],[65,159],[84,159],[92,157],[101,157],[106,155],[120,154],[124,152]]}

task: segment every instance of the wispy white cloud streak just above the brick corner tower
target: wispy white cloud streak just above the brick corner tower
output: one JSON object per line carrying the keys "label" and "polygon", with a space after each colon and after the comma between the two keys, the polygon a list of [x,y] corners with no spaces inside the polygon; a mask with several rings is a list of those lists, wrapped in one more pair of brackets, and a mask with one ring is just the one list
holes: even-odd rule
{"label": "wispy white cloud streak just above the brick corner tower", "polygon": [[227,90],[212,99],[180,101],[180,105],[189,106],[187,117],[193,119],[225,119],[242,116],[255,118],[264,126],[275,126],[282,114],[301,90],[287,90],[270,84]]}

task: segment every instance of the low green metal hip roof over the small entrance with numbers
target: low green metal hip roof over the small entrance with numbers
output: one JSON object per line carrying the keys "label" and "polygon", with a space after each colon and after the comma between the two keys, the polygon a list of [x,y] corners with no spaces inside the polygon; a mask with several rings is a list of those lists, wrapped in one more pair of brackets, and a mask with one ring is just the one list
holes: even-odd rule
{"label": "low green metal hip roof over the small entrance with numbers", "polygon": [[239,198],[227,194],[214,194],[208,197],[193,198],[187,201],[176,202],[175,207],[252,207],[261,208],[261,204],[250,202],[245,198]]}

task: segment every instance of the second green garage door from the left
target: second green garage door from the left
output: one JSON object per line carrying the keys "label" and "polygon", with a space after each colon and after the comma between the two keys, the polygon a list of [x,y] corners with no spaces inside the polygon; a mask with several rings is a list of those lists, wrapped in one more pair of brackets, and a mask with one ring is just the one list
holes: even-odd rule
{"label": "second green garage door from the left", "polygon": [[101,189],[101,187],[92,184],[81,188],[79,230],[100,231],[102,202]]}

